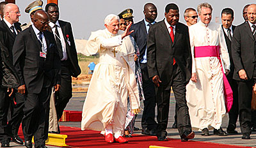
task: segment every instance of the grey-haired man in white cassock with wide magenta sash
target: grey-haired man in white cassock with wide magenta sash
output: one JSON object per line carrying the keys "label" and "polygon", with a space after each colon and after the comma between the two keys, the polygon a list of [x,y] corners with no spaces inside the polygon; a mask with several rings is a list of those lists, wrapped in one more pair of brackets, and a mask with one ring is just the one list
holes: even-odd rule
{"label": "grey-haired man in white cassock with wide magenta sash", "polygon": [[191,126],[204,136],[209,135],[209,127],[214,135],[226,136],[221,122],[226,113],[223,72],[230,70],[227,45],[221,25],[211,22],[211,5],[199,4],[197,10],[200,21],[189,27],[193,59],[186,98]]}

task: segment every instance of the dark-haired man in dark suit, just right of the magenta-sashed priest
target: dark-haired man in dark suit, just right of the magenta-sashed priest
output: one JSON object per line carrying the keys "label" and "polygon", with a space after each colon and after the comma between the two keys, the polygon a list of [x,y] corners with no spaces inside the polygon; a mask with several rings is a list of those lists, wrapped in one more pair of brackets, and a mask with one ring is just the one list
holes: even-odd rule
{"label": "dark-haired man in dark suit, just right of the magenta-sashed priest", "polygon": [[228,112],[229,121],[227,133],[236,134],[236,122],[238,118],[238,91],[237,91],[237,81],[233,79],[234,75],[234,62],[231,56],[231,39],[236,26],[232,25],[234,20],[234,11],[231,8],[225,8],[221,11],[221,22],[222,29],[225,36],[225,41],[228,48],[228,54],[230,59],[230,72],[227,75],[228,82],[233,91],[233,105]]}

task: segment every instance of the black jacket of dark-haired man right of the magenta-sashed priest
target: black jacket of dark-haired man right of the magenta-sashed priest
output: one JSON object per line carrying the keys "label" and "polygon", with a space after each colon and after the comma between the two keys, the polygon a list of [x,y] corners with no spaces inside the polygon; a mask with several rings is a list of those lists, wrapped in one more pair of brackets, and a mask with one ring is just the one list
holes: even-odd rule
{"label": "black jacket of dark-haired man right of the magenta-sashed priest", "polygon": [[[236,26],[232,25],[233,34],[234,34],[235,28],[236,28]],[[231,54],[231,41],[229,40],[227,34],[225,33],[223,26],[222,26],[222,30],[223,30],[223,33],[224,33],[226,45],[227,45],[227,48],[228,48],[229,59],[230,59],[230,72],[228,73],[227,78],[232,79],[233,75],[234,75],[235,67],[234,67],[234,61],[233,61],[232,54]]]}

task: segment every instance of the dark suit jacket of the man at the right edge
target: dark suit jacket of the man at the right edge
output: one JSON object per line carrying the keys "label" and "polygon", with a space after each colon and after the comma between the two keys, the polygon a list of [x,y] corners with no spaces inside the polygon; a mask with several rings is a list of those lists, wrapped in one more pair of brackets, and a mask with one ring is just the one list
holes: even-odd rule
{"label": "dark suit jacket of the man at the right edge", "polygon": [[236,27],[232,38],[232,59],[234,61],[234,76],[235,80],[242,80],[239,77],[239,70],[245,70],[248,79],[253,76],[255,62],[255,41],[252,35],[252,30],[247,22]]}

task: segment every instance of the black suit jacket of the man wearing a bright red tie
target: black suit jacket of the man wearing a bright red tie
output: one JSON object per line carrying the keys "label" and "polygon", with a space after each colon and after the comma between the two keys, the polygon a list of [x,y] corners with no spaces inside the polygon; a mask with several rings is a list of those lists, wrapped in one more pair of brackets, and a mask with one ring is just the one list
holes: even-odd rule
{"label": "black suit jacket of the man wearing a bright red tie", "polygon": [[150,26],[147,41],[147,66],[150,78],[158,75],[162,84],[168,84],[172,78],[173,58],[186,78],[191,78],[191,47],[188,27],[177,23],[172,43],[164,20]]}

